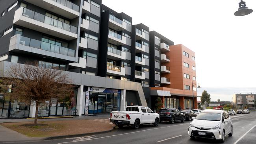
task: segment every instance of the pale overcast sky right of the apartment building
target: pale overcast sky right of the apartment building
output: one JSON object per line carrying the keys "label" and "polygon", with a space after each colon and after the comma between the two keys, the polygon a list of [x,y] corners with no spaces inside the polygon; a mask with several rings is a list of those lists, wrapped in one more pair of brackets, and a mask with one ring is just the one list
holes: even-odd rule
{"label": "pale overcast sky right of the apartment building", "polygon": [[[240,0],[102,0],[102,4],[143,23],[174,44],[195,52],[198,96],[232,101],[236,93],[256,93],[256,0],[254,9],[234,16]],[[198,99],[199,100],[199,99]]]}

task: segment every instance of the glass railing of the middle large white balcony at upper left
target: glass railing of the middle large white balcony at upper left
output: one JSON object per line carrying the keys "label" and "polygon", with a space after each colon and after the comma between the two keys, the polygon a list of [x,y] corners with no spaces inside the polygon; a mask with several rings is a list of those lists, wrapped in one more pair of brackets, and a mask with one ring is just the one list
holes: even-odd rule
{"label": "glass railing of the middle large white balcony at upper left", "polygon": [[61,21],[56,20],[54,18],[48,17],[46,15],[42,15],[41,13],[37,13],[37,12],[32,11],[30,9],[24,8],[22,15],[25,16],[25,17],[37,20],[39,22],[43,22],[45,24],[49,24],[51,26],[55,26],[57,28],[61,28],[63,30],[70,31],[72,33],[77,34],[77,27],[71,26],[70,24],[66,24],[65,22],[61,22]]}

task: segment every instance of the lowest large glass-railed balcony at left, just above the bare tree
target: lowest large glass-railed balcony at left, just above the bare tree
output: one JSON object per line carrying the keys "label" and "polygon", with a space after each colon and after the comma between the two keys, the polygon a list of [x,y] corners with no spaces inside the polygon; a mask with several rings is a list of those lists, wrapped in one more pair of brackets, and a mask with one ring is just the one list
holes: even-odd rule
{"label": "lowest large glass-railed balcony at left, just above the bare tree", "polygon": [[42,57],[52,57],[64,59],[70,62],[77,62],[76,50],[51,44],[45,41],[21,36],[20,34],[11,37],[9,52],[19,52],[24,54],[41,55]]}

